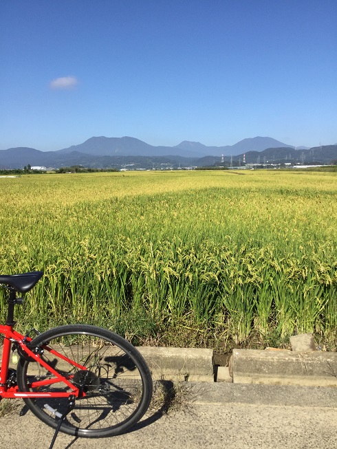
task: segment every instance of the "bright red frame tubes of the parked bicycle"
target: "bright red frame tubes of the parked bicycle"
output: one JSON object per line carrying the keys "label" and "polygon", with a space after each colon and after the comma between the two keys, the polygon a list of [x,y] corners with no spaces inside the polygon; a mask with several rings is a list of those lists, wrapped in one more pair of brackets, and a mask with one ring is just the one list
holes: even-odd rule
{"label": "bright red frame tubes of the parked bicycle", "polygon": [[[84,397],[85,393],[79,391],[79,389],[72,384],[71,379],[73,375],[69,375],[68,377],[64,377],[60,373],[58,373],[50,364],[47,364],[43,358],[41,358],[41,355],[36,354],[31,351],[31,349],[25,344],[25,342],[30,342],[32,338],[25,337],[21,335],[21,333],[14,331],[13,327],[11,325],[0,325],[0,333],[3,334],[3,353],[2,353],[2,359],[1,359],[1,368],[0,368],[0,399],[2,397],[8,397],[8,398],[14,398],[14,397],[69,397],[70,395],[74,395],[76,397]],[[48,392],[31,392],[31,391],[25,391],[21,392],[19,391],[19,388],[17,385],[15,386],[8,386],[8,369],[10,364],[10,350],[11,350],[11,344],[12,342],[17,342],[21,350],[26,353],[30,358],[34,359],[35,362],[41,364],[44,366],[47,371],[52,373],[55,377],[52,379],[46,379],[46,380],[39,380],[36,382],[33,382],[30,386],[32,388],[38,388],[39,386],[46,386],[46,385],[52,385],[56,384],[58,382],[64,382],[67,386],[69,386],[70,390],[66,393],[48,393]],[[82,366],[74,360],[71,360],[67,358],[65,355],[58,353],[54,349],[48,347],[47,345],[43,346],[44,351],[48,351],[55,355],[55,357],[60,358],[64,360],[65,362],[68,362],[69,364],[72,364],[73,366],[76,366],[76,368],[80,370],[87,370],[85,366]]]}

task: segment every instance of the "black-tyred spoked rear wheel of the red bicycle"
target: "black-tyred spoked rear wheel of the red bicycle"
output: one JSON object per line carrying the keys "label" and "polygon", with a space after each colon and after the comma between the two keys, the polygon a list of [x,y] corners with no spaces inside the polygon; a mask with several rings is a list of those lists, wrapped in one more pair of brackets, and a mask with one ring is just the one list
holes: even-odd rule
{"label": "black-tyred spoked rear wheel of the red bicycle", "polygon": [[[125,432],[144,415],[152,396],[152,380],[142,355],[116,333],[89,325],[55,327],[36,336],[31,344],[41,348],[41,357],[58,373],[83,388],[85,396],[76,398],[60,430],[78,437],[111,437]],[[59,354],[85,366],[50,353]],[[17,366],[19,391],[71,391],[41,364],[21,357]],[[32,382],[46,381],[32,388]],[[67,397],[26,398],[25,404],[45,424],[56,428],[67,410]]]}

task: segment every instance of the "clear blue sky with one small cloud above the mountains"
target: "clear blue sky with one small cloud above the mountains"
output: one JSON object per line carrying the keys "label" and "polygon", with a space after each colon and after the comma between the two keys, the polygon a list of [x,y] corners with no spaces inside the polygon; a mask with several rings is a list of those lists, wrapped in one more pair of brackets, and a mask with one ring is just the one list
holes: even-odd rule
{"label": "clear blue sky with one small cloud above the mountains", "polygon": [[337,142],[336,0],[1,0],[0,149]]}

